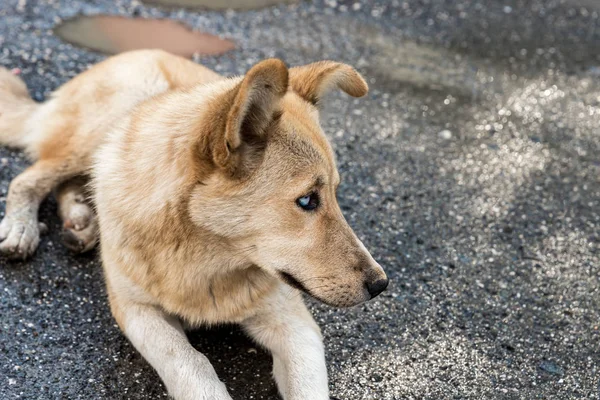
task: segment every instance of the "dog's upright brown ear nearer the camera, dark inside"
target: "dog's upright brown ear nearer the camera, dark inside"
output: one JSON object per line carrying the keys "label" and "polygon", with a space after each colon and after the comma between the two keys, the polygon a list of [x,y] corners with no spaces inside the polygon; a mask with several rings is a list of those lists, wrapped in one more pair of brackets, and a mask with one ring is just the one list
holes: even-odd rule
{"label": "dog's upright brown ear nearer the camera, dark inside", "polygon": [[[215,165],[230,172],[264,141],[269,124],[280,115],[279,101],[288,89],[288,68],[283,61],[267,59],[252,67],[229,98],[224,99],[221,118],[224,126],[213,138],[211,152]],[[255,151],[254,151],[255,152]]]}

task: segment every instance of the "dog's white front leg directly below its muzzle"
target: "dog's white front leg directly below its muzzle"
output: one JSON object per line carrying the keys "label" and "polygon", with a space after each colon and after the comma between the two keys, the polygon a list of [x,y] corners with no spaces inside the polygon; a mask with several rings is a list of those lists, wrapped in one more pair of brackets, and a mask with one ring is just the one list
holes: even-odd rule
{"label": "dog's white front leg directly below its muzzle", "polygon": [[273,376],[285,400],[329,399],[321,332],[296,290],[282,285],[243,326],[273,354]]}

